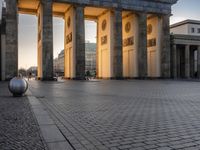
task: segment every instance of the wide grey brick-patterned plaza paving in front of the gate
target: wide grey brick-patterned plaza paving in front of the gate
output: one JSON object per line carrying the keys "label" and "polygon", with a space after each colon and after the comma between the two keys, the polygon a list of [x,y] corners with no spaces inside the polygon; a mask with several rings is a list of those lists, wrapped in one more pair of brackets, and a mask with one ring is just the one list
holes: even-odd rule
{"label": "wide grey brick-patterned plaza paving in front of the gate", "polygon": [[31,82],[76,150],[200,149],[200,82]]}

